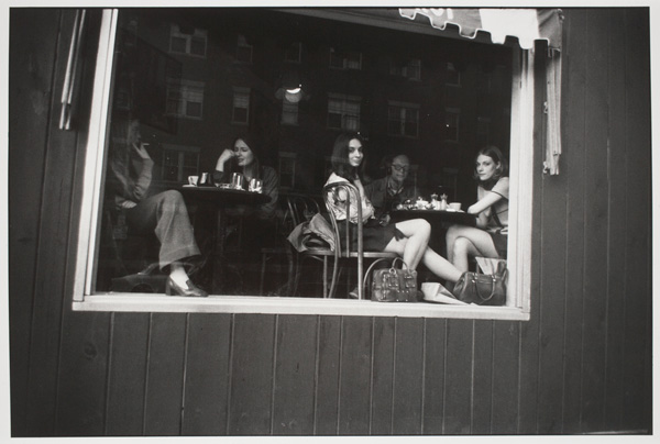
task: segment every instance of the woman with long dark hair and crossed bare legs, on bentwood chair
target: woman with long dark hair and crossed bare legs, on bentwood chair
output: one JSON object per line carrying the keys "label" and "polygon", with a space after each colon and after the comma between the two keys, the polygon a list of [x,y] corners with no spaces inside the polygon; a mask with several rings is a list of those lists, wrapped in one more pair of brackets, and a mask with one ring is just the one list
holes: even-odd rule
{"label": "woman with long dark hair and crossed bare legs, on bentwood chair", "polygon": [[[424,219],[414,219],[395,224],[381,225],[374,218],[374,207],[366,198],[362,186],[363,142],[358,133],[340,134],[332,151],[332,174],[326,185],[349,181],[358,188],[360,196],[351,197],[351,223],[358,223],[358,202],[362,206],[363,245],[365,251],[393,252],[398,254],[409,269],[416,269],[421,262],[436,276],[449,282],[461,277],[459,271],[444,257],[428,246],[431,234],[430,224]],[[348,196],[333,197],[329,211],[337,220],[346,219],[345,201]],[[344,224],[340,224],[343,227]],[[344,229],[345,230],[345,229]],[[353,230],[353,233],[356,231]],[[342,238],[345,234],[342,235]],[[352,247],[358,244],[356,237]]]}

